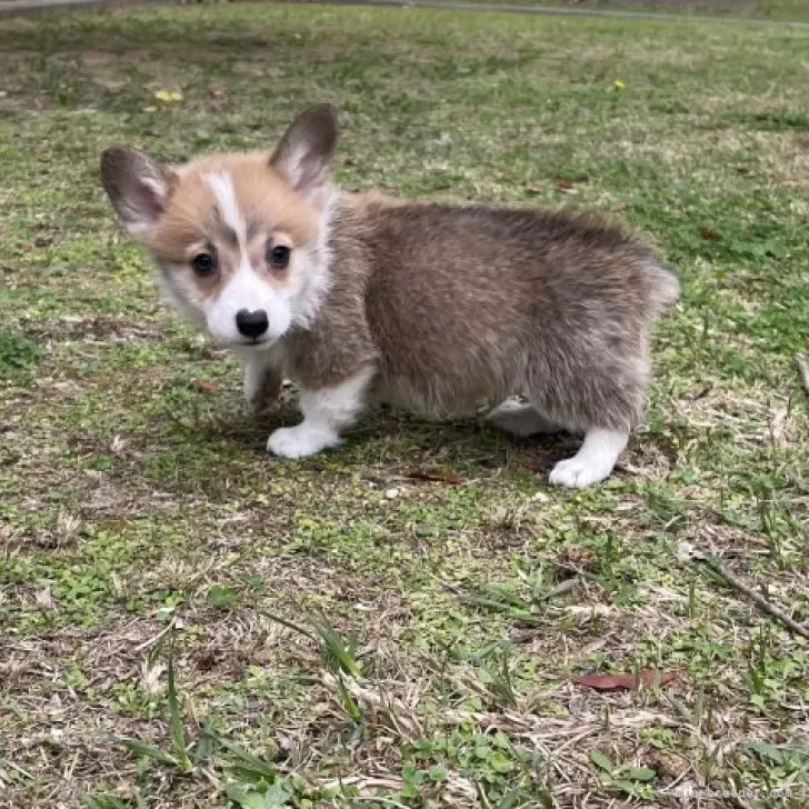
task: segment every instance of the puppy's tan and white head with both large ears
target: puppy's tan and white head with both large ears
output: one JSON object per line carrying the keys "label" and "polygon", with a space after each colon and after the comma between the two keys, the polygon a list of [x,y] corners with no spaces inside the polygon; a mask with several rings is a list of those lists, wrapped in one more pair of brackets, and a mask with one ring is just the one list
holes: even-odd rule
{"label": "puppy's tan and white head with both large ears", "polygon": [[101,176],[172,302],[219,342],[262,350],[306,324],[326,287],[336,141],[334,110],[320,104],[271,153],[214,154],[172,169],[112,147]]}

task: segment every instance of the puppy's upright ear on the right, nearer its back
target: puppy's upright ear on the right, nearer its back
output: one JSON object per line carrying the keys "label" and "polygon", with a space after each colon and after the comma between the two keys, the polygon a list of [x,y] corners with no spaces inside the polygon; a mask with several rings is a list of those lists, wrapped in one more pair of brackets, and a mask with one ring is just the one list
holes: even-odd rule
{"label": "puppy's upright ear on the right, nearer its back", "polygon": [[270,166],[292,188],[311,198],[329,179],[337,144],[337,110],[331,104],[310,107],[287,130],[270,158]]}

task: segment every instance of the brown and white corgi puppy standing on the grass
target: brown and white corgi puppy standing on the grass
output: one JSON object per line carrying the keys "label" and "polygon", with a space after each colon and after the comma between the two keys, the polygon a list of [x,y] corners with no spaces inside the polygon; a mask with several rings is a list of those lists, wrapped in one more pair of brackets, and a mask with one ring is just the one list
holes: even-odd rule
{"label": "brown and white corgi puppy standing on the grass", "polygon": [[101,160],[170,300],[242,360],[247,400],[260,407],[283,376],[298,383],[303,420],[268,451],[337,446],[372,396],[436,415],[485,399],[518,436],[583,433],[551,482],[607,478],[641,416],[649,330],[675,277],[591,217],[339,192],[336,141],[321,104],[271,153],[179,169],[121,148]]}

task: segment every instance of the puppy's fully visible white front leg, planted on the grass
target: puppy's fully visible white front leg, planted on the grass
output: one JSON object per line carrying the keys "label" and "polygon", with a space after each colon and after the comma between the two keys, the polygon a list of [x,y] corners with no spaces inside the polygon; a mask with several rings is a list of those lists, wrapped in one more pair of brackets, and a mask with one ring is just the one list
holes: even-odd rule
{"label": "puppy's fully visible white front leg, planted on the grass", "polygon": [[267,451],[281,458],[304,458],[340,443],[340,431],[362,411],[373,368],[363,368],[333,388],[301,390],[303,421],[282,427],[267,441]]}

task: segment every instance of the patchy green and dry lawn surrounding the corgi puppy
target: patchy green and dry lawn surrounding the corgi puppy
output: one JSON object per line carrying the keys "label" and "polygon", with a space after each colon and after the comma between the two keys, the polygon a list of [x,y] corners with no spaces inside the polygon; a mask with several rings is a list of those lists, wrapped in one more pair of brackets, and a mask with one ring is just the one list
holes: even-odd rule
{"label": "patchy green and dry lawn surrounding the corgi puppy", "polygon": [[[400,9],[6,22],[0,803],[805,806],[807,643],[679,551],[809,621],[808,47]],[[98,156],[261,146],[320,100],[348,188],[602,210],[679,267],[609,482],[548,488],[567,439],[396,412],[263,455],[292,393],[248,417]],[[677,677],[571,682],[649,668]]]}

